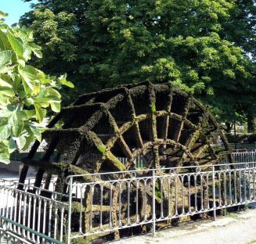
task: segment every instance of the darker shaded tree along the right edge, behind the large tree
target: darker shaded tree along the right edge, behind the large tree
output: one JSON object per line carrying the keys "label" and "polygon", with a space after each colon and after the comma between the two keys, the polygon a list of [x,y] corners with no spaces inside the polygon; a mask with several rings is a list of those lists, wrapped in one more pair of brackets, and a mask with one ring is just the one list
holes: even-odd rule
{"label": "darker shaded tree along the right edge, behind the large tree", "polygon": [[251,59],[250,91],[243,97],[243,111],[247,117],[248,132],[256,132],[255,68],[256,68],[256,1],[236,0],[230,18],[223,23],[221,32],[225,38],[243,48]]}

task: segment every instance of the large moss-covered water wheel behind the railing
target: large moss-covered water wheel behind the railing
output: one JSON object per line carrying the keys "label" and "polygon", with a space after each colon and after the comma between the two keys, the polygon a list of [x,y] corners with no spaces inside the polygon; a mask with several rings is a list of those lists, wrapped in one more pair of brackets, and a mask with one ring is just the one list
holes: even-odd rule
{"label": "large moss-covered water wheel behind the railing", "polygon": [[[56,128],[56,124],[62,126]],[[35,185],[41,185],[44,174],[48,183],[52,174],[58,174],[58,192],[66,192],[64,179],[70,174],[134,170],[138,158],[142,159],[142,167],[149,169],[207,167],[223,158],[232,161],[228,142],[215,118],[192,95],[170,84],[128,84],[81,95],[52,120],[44,137],[49,142],[45,155],[41,160],[33,160],[40,144],[35,142],[23,159],[20,182],[26,178],[29,166],[38,167]],[[211,146],[217,137],[222,140],[218,149]],[[113,194],[113,204],[117,202],[117,192],[118,188]],[[123,188],[120,194],[126,193]],[[86,197],[87,201],[93,198],[95,205],[99,203],[96,195],[88,193]],[[149,202],[151,197],[147,192],[146,199],[143,197],[141,201]],[[95,210],[99,208],[95,206]],[[141,211],[144,210],[142,207]],[[117,222],[117,215],[117,210],[113,210],[113,222]],[[88,222],[84,225],[87,228]],[[118,231],[114,234],[119,237]]]}

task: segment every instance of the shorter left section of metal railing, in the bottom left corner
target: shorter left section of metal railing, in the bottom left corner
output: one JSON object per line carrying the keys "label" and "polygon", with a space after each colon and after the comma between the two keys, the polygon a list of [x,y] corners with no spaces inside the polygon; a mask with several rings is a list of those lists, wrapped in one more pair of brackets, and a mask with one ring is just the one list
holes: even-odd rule
{"label": "shorter left section of metal railing, in the bottom left corner", "polygon": [[59,195],[63,196],[33,185],[1,180],[1,243],[63,242],[67,233],[67,203],[57,201]]}

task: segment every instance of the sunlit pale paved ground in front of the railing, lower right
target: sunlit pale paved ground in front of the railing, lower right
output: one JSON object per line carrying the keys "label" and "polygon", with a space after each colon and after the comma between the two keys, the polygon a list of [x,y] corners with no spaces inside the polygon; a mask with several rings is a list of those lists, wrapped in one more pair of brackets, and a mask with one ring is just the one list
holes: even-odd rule
{"label": "sunlit pale paved ground in front of the railing, lower right", "polygon": [[156,236],[140,235],[112,244],[256,244],[256,209],[229,213],[216,221],[197,221],[157,231]]}

